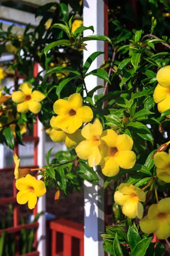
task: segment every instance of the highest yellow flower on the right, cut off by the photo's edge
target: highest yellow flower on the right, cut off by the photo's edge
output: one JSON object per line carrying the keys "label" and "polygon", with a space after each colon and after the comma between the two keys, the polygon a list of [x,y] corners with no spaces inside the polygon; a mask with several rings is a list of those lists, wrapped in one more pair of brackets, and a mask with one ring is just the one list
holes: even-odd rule
{"label": "highest yellow flower on the right, cut off by the photo's edge", "polygon": [[[170,66],[161,68],[157,73],[158,85],[153,98],[158,103],[158,111],[163,113],[170,108]],[[170,115],[168,115],[170,118]]]}

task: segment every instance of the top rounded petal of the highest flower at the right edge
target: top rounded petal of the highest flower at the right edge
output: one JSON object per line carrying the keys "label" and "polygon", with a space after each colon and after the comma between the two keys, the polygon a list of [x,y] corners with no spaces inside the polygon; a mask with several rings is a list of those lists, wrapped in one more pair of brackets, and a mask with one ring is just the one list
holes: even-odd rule
{"label": "top rounded petal of the highest flower at the right edge", "polygon": [[170,87],[170,66],[159,69],[156,79],[160,85]]}

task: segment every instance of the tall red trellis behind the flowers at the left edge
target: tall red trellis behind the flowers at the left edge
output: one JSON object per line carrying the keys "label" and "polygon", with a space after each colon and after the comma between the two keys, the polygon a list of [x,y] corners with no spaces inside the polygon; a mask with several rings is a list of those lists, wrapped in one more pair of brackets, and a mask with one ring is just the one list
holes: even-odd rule
{"label": "tall red trellis behind the flowers at the left edge", "polygon": [[[34,66],[34,70],[33,70],[33,76],[37,77],[37,71],[38,69],[38,64],[35,63]],[[7,75],[7,77],[14,77],[15,78],[15,90],[17,90],[18,87],[18,79],[19,78],[25,78],[23,76],[21,76],[20,74],[18,74],[18,72],[16,72],[16,76],[14,76],[13,74],[9,74]],[[37,117],[36,117],[37,119]],[[35,123],[33,125],[33,136],[23,136],[23,141],[31,141],[34,143],[34,165],[33,166],[23,166],[24,168],[38,168],[38,164],[37,164],[37,145],[38,145],[38,134],[37,134],[37,123]],[[19,149],[19,145],[17,143],[17,141],[15,141],[15,148],[14,148],[14,152],[18,155],[18,149]],[[12,172],[11,174],[11,179],[13,177],[13,172],[14,172],[14,167],[9,167],[9,168],[3,168],[0,169],[0,173],[5,173],[5,172]],[[36,236],[36,232],[37,232],[37,228],[38,228],[38,223],[29,223],[29,224],[25,224],[25,225],[20,225],[20,212],[19,212],[19,206],[16,203],[16,195],[17,195],[17,189],[15,187],[15,179],[13,181],[13,197],[8,197],[8,198],[0,198],[0,204],[9,204],[9,203],[13,203],[14,204],[14,214],[13,214],[13,227],[11,228],[5,228],[5,229],[1,229],[0,230],[0,235],[3,233],[3,231],[7,232],[7,233],[15,233],[15,256],[20,256],[20,251],[19,251],[19,236],[20,236],[20,231],[23,229],[35,229],[35,241],[34,241],[34,245],[33,247],[36,248],[37,247],[37,236]],[[37,206],[35,207],[35,209],[33,210],[33,214],[36,215],[37,214]],[[34,251],[31,253],[26,253],[23,254],[23,256],[39,256],[39,252],[38,251]]]}

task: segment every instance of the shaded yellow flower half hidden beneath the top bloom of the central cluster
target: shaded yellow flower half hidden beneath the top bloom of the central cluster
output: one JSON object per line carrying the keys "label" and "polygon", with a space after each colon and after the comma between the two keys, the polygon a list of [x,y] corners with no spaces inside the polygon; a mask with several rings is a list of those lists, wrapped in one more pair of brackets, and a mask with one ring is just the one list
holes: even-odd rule
{"label": "shaded yellow flower half hidden beneath the top bloom of the central cluster", "polygon": [[[54,118],[54,117],[53,117]],[[52,124],[52,120],[50,120],[50,124]],[[55,142],[65,142],[65,145],[67,148],[75,148],[80,141],[85,140],[85,138],[82,137],[81,135],[81,129],[78,129],[75,131],[75,133],[65,133],[62,131],[60,128],[54,129],[50,131],[50,138],[52,141]]]}

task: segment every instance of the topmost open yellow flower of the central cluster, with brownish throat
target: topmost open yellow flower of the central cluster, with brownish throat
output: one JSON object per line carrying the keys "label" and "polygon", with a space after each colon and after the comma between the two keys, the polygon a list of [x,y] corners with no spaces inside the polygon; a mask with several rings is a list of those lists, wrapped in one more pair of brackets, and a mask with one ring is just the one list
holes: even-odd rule
{"label": "topmost open yellow flower of the central cluster, with brownish throat", "polygon": [[75,133],[82,123],[90,122],[93,113],[90,107],[82,107],[82,97],[80,93],[74,93],[68,100],[57,100],[53,105],[53,110],[57,114],[52,117],[52,128],[62,129],[66,133]]}

